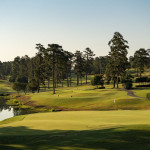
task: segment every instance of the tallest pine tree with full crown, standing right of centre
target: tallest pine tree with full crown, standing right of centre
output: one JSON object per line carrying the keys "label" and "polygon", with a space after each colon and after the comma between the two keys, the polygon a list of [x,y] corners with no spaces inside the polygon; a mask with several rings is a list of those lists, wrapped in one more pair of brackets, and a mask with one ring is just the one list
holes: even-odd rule
{"label": "tallest pine tree with full crown, standing right of centre", "polygon": [[107,71],[109,69],[110,74],[115,83],[117,83],[117,88],[119,84],[119,76],[125,73],[125,70],[128,66],[127,59],[127,41],[123,39],[123,36],[119,32],[115,32],[113,38],[109,41],[108,45],[110,46],[109,52],[109,63],[107,66]]}

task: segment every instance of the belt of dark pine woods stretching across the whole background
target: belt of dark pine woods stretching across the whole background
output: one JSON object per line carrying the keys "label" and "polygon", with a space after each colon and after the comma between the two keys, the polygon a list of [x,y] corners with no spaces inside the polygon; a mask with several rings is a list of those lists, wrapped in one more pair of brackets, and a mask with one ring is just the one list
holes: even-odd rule
{"label": "belt of dark pine woods stretching across the whole background", "polygon": [[136,76],[141,78],[145,68],[150,68],[150,50],[141,48],[128,59],[128,42],[119,32],[114,33],[108,45],[110,52],[107,56],[94,57],[90,48],[76,50],[73,54],[58,44],[48,44],[47,48],[36,44],[37,53],[34,57],[17,56],[12,62],[0,62],[0,78],[8,77],[17,91],[40,92],[40,86],[43,85],[52,87],[55,94],[55,88],[60,85],[63,87],[64,82],[68,87],[72,86],[72,75],[76,76],[77,86],[83,84],[83,77],[87,84],[89,74],[99,74],[107,84],[112,81],[113,88],[118,88],[121,78],[124,81],[131,80],[127,75],[128,69],[136,69]]}

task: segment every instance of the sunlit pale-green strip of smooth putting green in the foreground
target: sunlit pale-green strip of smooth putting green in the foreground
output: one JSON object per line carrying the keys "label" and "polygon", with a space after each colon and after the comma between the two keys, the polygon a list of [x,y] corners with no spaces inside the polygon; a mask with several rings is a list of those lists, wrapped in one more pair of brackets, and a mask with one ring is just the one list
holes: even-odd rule
{"label": "sunlit pale-green strip of smooth putting green in the foreground", "polygon": [[110,126],[150,124],[149,116],[150,111],[66,111],[37,113],[25,115],[20,121],[2,124],[0,128],[25,126],[36,130],[90,130],[108,128]]}

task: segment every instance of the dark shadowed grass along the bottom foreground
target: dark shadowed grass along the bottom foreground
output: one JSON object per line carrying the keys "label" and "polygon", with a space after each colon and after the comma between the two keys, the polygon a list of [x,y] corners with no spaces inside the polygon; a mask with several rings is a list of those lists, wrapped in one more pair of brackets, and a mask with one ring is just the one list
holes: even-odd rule
{"label": "dark shadowed grass along the bottom foreground", "polygon": [[4,127],[0,128],[0,149],[149,150],[150,125],[82,131],[43,131],[24,126]]}

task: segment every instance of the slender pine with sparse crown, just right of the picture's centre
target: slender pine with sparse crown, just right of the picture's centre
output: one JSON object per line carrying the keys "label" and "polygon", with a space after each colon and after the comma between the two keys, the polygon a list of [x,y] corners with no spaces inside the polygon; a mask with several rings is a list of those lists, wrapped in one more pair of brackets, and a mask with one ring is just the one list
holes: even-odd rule
{"label": "slender pine with sparse crown, just right of the picture's centre", "polygon": [[86,73],[86,84],[87,84],[87,75],[90,71],[90,66],[93,62],[93,56],[95,56],[94,52],[90,48],[86,48],[84,51],[84,57],[85,57],[85,73]]}

